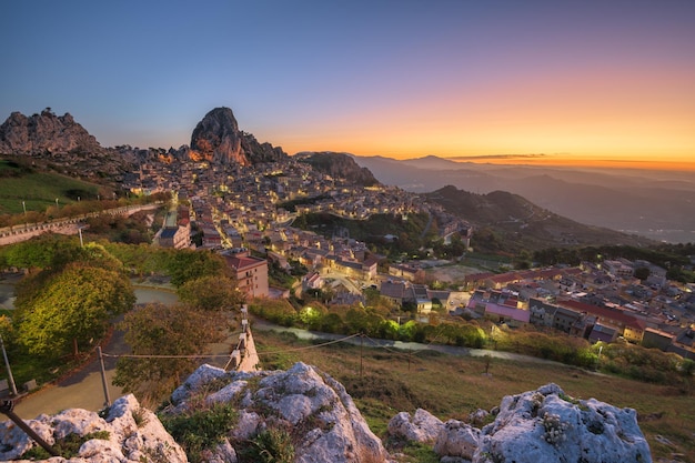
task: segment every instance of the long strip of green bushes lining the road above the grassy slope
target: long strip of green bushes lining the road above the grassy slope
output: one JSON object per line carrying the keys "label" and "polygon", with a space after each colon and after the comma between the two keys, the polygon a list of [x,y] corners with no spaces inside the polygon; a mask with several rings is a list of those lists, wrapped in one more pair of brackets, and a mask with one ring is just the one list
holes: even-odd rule
{"label": "long strip of green bushes lining the road above the grassy slope", "polygon": [[[567,365],[604,371],[678,387],[693,389],[695,362],[657,349],[634,344],[590,344],[588,341],[557,331],[540,331],[534,326],[508,329],[490,321],[465,321],[431,314],[430,323],[407,320],[401,323],[390,318],[387,309],[330,306],[311,302],[295,309],[288,301],[252,301],[252,314],[282,326],[345,335],[436,343],[473,349],[490,349],[518,353]],[[600,355],[603,353],[603,355]]]}

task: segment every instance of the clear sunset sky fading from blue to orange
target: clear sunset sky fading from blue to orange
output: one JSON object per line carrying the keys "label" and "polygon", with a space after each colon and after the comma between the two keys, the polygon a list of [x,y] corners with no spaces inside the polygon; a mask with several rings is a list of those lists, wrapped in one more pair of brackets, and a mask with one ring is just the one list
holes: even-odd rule
{"label": "clear sunset sky fading from blue to orange", "polygon": [[[178,148],[695,169],[695,1],[0,1],[0,121]],[[484,160],[484,161],[483,161]]]}

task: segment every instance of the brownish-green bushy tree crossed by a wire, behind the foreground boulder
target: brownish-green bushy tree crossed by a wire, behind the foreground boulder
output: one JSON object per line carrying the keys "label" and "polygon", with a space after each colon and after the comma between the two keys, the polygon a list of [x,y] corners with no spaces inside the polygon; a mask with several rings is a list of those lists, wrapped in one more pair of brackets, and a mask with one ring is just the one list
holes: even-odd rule
{"label": "brownish-green bushy tree crossed by a wire, behind the foreground boulder", "polygon": [[[113,383],[140,400],[157,403],[181,384],[200,363],[209,343],[222,341],[226,330],[223,314],[211,314],[190,305],[151,303],[125,314],[119,328],[135,355],[123,356],[115,365]],[[181,355],[163,359],[147,355]]]}

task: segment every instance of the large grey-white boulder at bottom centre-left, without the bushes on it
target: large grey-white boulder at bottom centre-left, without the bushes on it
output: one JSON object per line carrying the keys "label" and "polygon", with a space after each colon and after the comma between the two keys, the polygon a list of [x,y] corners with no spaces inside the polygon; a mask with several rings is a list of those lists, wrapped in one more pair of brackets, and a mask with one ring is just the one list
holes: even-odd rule
{"label": "large grey-white boulder at bottom centre-left, without the bushes on it", "polygon": [[[211,385],[214,384],[214,387]],[[313,366],[296,363],[288,371],[225,373],[204,365],[172,394],[165,413],[188,413],[199,406],[201,391],[208,404],[238,402],[239,422],[222,444],[208,455],[244,444],[268,430],[289,430],[294,461],[384,462],[389,455],[342,384]]]}

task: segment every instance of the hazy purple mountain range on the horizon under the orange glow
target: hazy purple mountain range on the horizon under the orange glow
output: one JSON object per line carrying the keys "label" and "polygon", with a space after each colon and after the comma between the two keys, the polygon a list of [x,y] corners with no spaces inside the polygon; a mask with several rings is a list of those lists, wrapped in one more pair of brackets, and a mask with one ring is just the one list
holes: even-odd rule
{"label": "hazy purple mountain range on the horizon under the orange glow", "polygon": [[581,223],[658,241],[695,241],[695,172],[353,158],[380,182],[406,191],[445,185],[480,194],[508,191]]}

